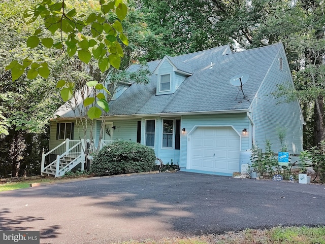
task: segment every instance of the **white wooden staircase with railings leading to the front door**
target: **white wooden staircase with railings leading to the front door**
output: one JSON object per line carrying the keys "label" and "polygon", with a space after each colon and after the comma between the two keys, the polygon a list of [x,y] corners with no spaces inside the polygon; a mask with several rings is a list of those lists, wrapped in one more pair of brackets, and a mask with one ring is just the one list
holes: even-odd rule
{"label": "white wooden staircase with railings leading to the front door", "polygon": [[85,154],[84,140],[73,141],[66,139],[63,143],[42,154],[41,175],[62,177],[64,173],[72,170],[81,163],[84,170]]}

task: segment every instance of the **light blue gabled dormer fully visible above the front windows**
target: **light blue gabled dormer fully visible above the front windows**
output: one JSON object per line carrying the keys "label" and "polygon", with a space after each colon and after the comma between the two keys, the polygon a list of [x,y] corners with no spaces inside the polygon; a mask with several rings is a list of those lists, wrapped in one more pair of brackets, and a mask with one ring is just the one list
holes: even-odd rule
{"label": "light blue gabled dormer fully visible above the front windows", "polygon": [[173,94],[182,82],[193,74],[187,63],[165,56],[153,71],[157,76],[156,95]]}

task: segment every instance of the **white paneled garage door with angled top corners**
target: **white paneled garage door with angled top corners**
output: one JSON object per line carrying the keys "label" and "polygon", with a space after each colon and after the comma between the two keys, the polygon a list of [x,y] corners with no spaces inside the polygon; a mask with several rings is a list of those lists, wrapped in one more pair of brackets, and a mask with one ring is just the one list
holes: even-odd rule
{"label": "white paneled garage door with angled top corners", "polygon": [[191,169],[238,172],[239,143],[239,135],[232,127],[198,127],[191,135]]}

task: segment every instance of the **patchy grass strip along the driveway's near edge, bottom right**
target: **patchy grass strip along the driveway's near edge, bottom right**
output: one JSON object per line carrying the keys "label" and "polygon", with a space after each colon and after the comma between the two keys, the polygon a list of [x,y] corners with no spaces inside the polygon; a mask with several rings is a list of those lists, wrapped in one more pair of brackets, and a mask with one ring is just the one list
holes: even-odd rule
{"label": "patchy grass strip along the driveway's near edge, bottom right", "polygon": [[274,227],[270,230],[246,229],[219,235],[202,235],[191,238],[126,241],[114,244],[325,244],[323,227]]}

